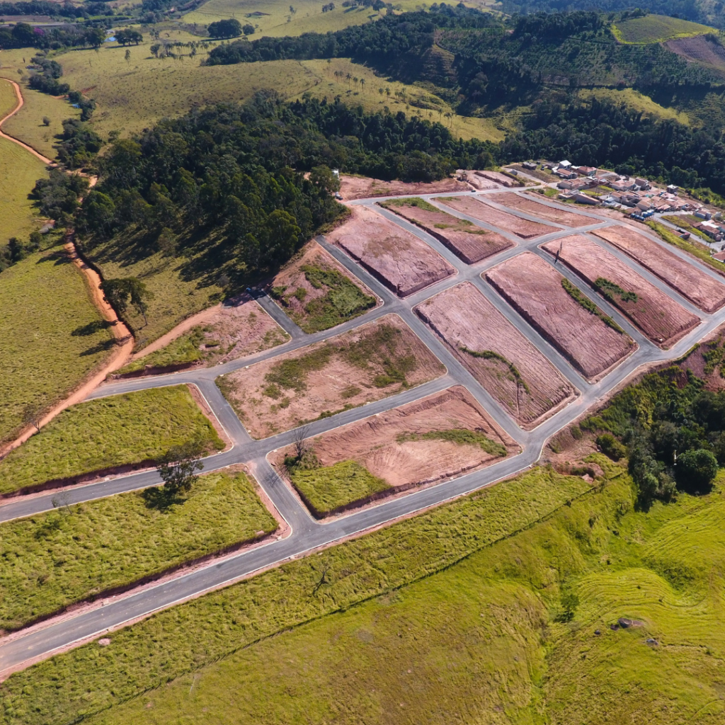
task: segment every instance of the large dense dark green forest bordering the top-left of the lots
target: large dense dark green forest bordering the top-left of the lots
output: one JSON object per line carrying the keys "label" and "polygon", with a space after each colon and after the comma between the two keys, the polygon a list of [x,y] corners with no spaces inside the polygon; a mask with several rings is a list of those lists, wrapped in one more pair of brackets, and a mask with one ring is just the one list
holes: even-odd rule
{"label": "large dense dark green forest bordering the top-left of the lots", "polygon": [[[80,123],[68,133],[84,130]],[[199,275],[228,268],[231,282],[245,283],[343,212],[331,168],[432,181],[489,165],[494,149],[403,113],[316,99],[286,104],[260,92],[115,141],[96,159],[100,181],[75,212],[75,228],[86,248],[121,235],[130,257],[161,249],[195,257]],[[43,212],[70,223],[73,194],[62,175],[38,182],[35,194]]]}

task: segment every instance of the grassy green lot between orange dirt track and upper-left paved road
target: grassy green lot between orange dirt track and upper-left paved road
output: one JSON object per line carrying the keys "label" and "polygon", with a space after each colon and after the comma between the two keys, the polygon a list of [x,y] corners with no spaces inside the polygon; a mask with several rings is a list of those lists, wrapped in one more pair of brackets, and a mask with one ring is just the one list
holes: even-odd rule
{"label": "grassy green lot between orange dirt track and upper-left paved road", "polygon": [[154,460],[170,447],[223,442],[188,387],[141,390],[72,405],[0,461],[0,493]]}

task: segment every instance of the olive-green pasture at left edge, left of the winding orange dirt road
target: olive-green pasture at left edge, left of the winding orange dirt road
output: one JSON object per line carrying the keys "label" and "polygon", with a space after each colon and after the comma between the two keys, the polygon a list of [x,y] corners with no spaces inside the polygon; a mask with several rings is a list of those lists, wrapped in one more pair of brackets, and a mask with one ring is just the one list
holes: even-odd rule
{"label": "olive-green pasture at left edge, left of the winding orange dirt road", "polygon": [[0,273],[0,310],[2,441],[22,426],[26,406],[58,402],[103,363],[113,338],[83,275],[57,250],[31,254]]}

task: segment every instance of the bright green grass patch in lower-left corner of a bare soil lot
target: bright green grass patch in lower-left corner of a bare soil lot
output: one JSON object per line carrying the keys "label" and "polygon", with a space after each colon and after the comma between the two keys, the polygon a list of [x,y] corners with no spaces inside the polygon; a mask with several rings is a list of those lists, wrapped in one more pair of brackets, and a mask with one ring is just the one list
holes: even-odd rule
{"label": "bright green grass patch in lower-left corner of a bare soil lot", "polygon": [[318,515],[326,515],[391,486],[354,460],[343,460],[320,468],[288,468],[294,487]]}

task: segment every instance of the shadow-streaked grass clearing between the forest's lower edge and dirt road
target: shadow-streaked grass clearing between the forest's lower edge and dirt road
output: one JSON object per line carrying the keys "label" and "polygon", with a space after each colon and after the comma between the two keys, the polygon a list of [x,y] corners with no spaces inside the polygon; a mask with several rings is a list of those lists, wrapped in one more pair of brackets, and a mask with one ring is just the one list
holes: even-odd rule
{"label": "shadow-streaked grass clearing between the forest's lower edge and dirt road", "polygon": [[123,253],[123,244],[123,239],[117,238],[96,247],[88,256],[99,266],[105,279],[138,277],[154,295],[146,312],[148,325],[136,310],[129,309],[125,313],[136,336],[136,351],[190,315],[218,302],[221,289],[215,284],[205,286],[199,280],[183,279],[176,261],[161,252],[129,263]]}

